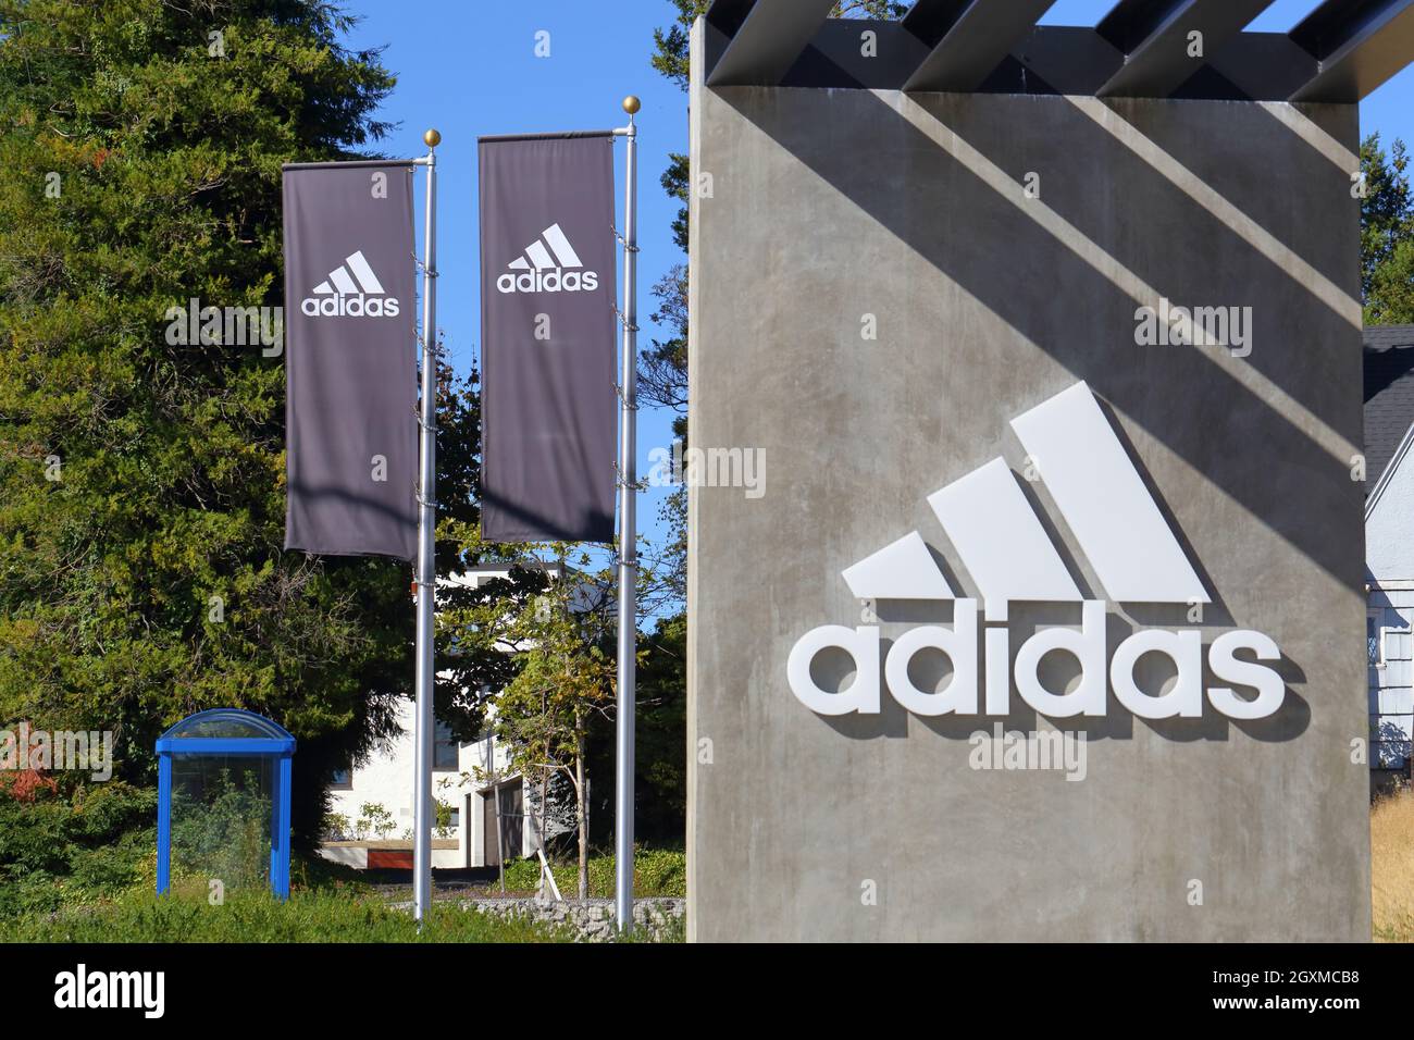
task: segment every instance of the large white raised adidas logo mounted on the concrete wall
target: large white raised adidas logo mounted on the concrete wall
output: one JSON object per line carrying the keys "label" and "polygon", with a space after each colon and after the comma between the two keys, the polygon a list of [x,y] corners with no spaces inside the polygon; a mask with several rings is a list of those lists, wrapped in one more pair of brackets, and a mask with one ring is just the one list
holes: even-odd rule
{"label": "large white raised adidas logo mounted on the concrete wall", "polygon": [[[1011,427],[1111,600],[1188,606],[1210,601],[1089,386],[1076,383],[1012,419]],[[1110,691],[1141,719],[1202,716],[1202,632],[1140,630],[1120,642],[1106,662],[1106,601],[1082,596],[1005,461],[994,458],[973,470],[929,495],[928,504],[981,594],[981,625],[977,600],[956,596],[916,531],[843,572],[844,583],[860,599],[953,601],[952,628],[922,625],[889,647],[884,681],[899,705],[922,716],[1008,716],[1015,683],[1032,710],[1053,719],[1103,716]],[[1036,601],[1080,604],[1080,625],[1035,632],[1017,648],[1012,666],[1007,607]],[[816,655],[829,648],[854,659],[855,678],[837,693],[822,689],[810,675]],[[919,689],[909,675],[913,657],[923,649],[940,651],[952,662],[952,676],[940,691]],[[1069,692],[1048,691],[1039,679],[1041,661],[1052,652],[1070,654],[1080,665],[1079,682]],[[1172,662],[1176,681],[1168,692],[1145,692],[1135,682],[1134,665],[1147,654]],[[820,715],[875,715],[880,657],[877,625],[814,628],[790,651],[790,692]],[[1275,668],[1263,662],[1280,659],[1277,644],[1261,632],[1217,635],[1208,647],[1208,669],[1217,682],[1232,685],[1209,686],[1208,702],[1230,719],[1275,713],[1287,688]],[[1254,696],[1240,695],[1233,686],[1253,691]]]}

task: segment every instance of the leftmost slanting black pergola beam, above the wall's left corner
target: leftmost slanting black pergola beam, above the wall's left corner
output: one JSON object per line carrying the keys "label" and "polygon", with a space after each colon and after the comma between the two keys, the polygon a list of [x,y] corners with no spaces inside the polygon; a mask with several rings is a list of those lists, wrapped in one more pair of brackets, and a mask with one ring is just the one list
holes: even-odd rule
{"label": "leftmost slanting black pergola beam, above the wall's left corner", "polygon": [[708,86],[776,86],[829,17],[834,0],[713,0],[707,24],[728,37]]}

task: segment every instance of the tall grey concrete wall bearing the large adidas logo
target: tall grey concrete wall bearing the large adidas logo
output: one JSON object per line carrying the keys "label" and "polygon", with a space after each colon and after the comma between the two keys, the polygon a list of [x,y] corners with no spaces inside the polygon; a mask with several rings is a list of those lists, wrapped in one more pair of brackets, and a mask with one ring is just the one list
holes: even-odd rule
{"label": "tall grey concrete wall bearing the large adidas logo", "polygon": [[[700,62],[690,103],[691,443],[759,449],[768,480],[690,497],[689,935],[1369,938],[1355,109],[710,91]],[[1159,296],[1253,307],[1251,354],[1137,345]],[[1151,723],[1111,695],[1069,782],[970,768],[991,719],[799,703],[795,641],[867,606],[841,569],[916,529],[977,594],[925,495],[1019,473],[1008,420],[1077,379],[1215,599],[1203,642],[1282,648],[1281,712]],[[877,610],[885,641],[947,623]],[[1065,610],[1012,608],[1012,648]],[[1189,627],[1109,610],[1111,647]]]}

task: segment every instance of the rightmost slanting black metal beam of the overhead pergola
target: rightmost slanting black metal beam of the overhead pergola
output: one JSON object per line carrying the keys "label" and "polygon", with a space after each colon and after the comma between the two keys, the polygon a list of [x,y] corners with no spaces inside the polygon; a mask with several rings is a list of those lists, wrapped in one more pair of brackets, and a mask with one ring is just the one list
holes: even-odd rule
{"label": "rightmost slanting black metal beam of the overhead pergola", "polygon": [[1291,100],[1355,103],[1414,55],[1414,0],[1326,0],[1291,38],[1316,59]]}

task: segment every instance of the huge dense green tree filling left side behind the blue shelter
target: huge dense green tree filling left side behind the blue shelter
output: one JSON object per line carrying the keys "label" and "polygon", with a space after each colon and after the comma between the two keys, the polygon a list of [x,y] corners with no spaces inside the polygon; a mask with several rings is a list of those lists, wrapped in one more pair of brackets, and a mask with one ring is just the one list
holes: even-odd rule
{"label": "huge dense green tree filling left side behind the blue shelter", "polygon": [[409,569],[283,552],[284,368],[167,311],[281,304],[280,166],[393,86],[317,0],[0,0],[0,722],[120,775],[236,705],[300,739],[297,833],[411,675]]}

